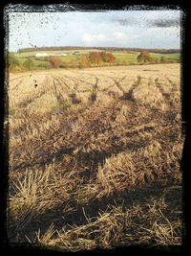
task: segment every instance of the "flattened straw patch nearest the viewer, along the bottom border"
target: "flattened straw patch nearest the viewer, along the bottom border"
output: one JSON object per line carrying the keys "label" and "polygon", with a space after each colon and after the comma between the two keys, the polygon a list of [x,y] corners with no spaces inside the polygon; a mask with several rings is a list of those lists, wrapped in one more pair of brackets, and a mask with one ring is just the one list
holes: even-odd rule
{"label": "flattened straw patch nearest the viewer, along the bottom border", "polygon": [[[97,218],[87,218],[79,226],[48,229],[37,235],[41,245],[53,246],[63,251],[113,248],[124,245],[171,245],[181,244],[180,221],[169,221],[163,214],[168,211],[165,199],[149,199],[148,203],[134,203],[131,207],[114,205]],[[152,209],[152,211],[151,211]],[[146,214],[149,210],[149,215]],[[85,210],[84,215],[86,215]],[[134,232],[132,232],[134,230]],[[56,233],[56,238],[50,239]]]}

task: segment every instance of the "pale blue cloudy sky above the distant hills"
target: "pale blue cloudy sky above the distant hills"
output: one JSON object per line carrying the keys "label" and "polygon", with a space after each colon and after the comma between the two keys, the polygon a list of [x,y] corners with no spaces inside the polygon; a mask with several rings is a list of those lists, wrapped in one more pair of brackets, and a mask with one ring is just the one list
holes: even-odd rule
{"label": "pale blue cloudy sky above the distant hills", "polygon": [[35,46],[180,48],[180,11],[10,12],[9,50]]}

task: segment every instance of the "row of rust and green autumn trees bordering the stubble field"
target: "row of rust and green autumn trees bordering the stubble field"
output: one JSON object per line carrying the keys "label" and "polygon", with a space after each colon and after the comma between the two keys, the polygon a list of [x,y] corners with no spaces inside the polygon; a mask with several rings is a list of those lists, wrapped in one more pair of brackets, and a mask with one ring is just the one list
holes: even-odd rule
{"label": "row of rust and green autumn trees bordering the stubble field", "polygon": [[[11,71],[32,70],[34,68],[85,68],[92,66],[116,65],[117,59],[112,53],[106,51],[89,52],[89,54],[78,56],[76,59],[71,59],[68,62],[63,62],[59,57],[34,58],[28,57],[23,63],[20,63],[18,58],[10,53],[7,63]],[[32,59],[41,60],[37,66]],[[142,51],[138,54],[138,63],[170,63],[179,62],[180,59],[168,59],[164,56],[160,58],[152,58],[148,51]]]}

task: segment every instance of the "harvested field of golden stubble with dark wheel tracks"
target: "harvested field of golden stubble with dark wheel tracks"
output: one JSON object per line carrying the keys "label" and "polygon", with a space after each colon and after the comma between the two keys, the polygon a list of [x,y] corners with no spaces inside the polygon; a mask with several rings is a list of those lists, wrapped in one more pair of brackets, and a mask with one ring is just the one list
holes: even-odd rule
{"label": "harvested field of golden stubble with dark wheel tracks", "polygon": [[10,74],[11,243],[180,245],[180,64]]}

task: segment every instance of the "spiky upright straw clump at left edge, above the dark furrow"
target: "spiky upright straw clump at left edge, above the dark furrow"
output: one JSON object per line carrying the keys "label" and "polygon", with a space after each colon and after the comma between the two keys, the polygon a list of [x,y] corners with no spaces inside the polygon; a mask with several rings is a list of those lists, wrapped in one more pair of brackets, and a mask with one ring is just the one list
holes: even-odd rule
{"label": "spiky upright straw clump at left edge, above the dark furrow", "polygon": [[43,171],[27,169],[22,179],[11,183],[9,215],[20,229],[47,209],[66,201],[73,181],[56,175],[54,164],[49,164]]}

